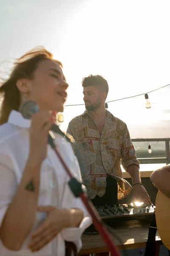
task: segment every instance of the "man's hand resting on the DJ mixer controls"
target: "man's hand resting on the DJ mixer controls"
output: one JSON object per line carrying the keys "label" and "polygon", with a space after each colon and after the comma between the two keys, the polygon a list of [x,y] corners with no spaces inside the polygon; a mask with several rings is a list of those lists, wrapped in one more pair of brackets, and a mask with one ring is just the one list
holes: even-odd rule
{"label": "man's hand resting on the DJ mixer controls", "polygon": [[139,184],[133,186],[133,202],[143,202],[146,205],[152,204],[146,189]]}

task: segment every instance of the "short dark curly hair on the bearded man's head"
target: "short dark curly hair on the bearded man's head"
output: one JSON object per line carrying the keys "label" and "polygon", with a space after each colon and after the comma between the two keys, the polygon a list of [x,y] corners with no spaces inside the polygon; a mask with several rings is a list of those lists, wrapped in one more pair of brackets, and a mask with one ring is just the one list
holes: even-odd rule
{"label": "short dark curly hair on the bearded man's head", "polygon": [[108,91],[109,91],[108,82],[102,76],[90,75],[88,77],[84,77],[82,79],[82,87],[88,87],[88,86],[96,86],[97,89],[99,89],[102,92],[105,92],[106,96],[108,96]]}

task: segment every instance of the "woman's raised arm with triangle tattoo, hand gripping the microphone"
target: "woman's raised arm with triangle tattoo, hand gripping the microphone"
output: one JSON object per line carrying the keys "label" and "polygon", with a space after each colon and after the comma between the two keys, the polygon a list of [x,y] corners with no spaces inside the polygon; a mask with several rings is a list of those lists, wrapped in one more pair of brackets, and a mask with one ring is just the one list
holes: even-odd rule
{"label": "woman's raised arm with triangle tattoo, hand gripping the microphone", "polygon": [[[48,131],[51,129],[52,124],[53,116],[48,111],[39,111],[32,116],[26,167],[17,192],[8,206],[0,227],[0,239],[11,250],[20,249],[34,225],[39,196],[40,169],[42,161],[47,156]],[[10,151],[10,148],[6,149],[7,154],[8,151]],[[0,155],[0,163],[3,161],[3,156]],[[13,170],[17,168],[12,164],[11,166]],[[1,180],[3,187],[5,182],[8,186],[8,180],[5,177]],[[2,198],[5,197],[6,194],[3,192]]]}

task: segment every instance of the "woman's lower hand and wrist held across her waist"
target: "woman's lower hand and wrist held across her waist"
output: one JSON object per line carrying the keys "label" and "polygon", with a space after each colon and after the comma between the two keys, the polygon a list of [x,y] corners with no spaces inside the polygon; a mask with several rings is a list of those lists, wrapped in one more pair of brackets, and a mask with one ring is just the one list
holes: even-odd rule
{"label": "woman's lower hand and wrist held across her waist", "polygon": [[83,218],[83,212],[80,209],[58,209],[56,207],[38,207],[41,212],[47,213],[46,220],[32,234],[32,241],[28,248],[32,252],[40,250],[64,228],[79,227]]}

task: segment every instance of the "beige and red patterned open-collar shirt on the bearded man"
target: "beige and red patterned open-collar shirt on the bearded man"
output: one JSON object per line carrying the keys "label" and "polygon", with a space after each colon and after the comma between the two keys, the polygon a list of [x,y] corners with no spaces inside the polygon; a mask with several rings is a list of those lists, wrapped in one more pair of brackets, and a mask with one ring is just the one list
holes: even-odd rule
{"label": "beige and red patterned open-collar shirt on the bearded man", "polygon": [[118,200],[129,195],[132,187],[122,178],[121,160],[125,171],[131,164],[139,166],[139,161],[125,122],[106,110],[105,124],[100,135],[92,117],[85,111],[71,120],[67,133],[77,142],[82,158],[82,179],[89,199],[105,194],[108,176],[112,176],[118,183]]}

